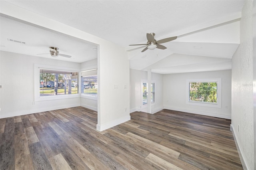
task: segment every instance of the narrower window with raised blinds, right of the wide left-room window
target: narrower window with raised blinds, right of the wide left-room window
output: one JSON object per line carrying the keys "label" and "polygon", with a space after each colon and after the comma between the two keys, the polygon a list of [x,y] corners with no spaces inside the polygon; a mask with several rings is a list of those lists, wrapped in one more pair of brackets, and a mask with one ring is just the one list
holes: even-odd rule
{"label": "narrower window with raised blinds, right of the wide left-room window", "polygon": [[97,69],[81,71],[81,94],[97,96]]}

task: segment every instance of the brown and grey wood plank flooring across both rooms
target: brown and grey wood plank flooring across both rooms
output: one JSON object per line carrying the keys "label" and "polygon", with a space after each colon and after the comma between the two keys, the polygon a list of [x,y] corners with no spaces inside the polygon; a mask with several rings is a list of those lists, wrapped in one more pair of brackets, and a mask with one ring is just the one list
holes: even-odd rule
{"label": "brown and grey wood plank flooring across both rooms", "polygon": [[0,170],[241,170],[230,120],[162,110],[98,132],[73,107],[0,119]]}

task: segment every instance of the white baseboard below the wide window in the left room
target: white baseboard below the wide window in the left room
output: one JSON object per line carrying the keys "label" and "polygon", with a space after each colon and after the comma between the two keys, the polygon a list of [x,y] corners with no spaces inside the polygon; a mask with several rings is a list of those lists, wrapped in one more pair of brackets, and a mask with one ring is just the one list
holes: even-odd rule
{"label": "white baseboard below the wide window in the left room", "polygon": [[1,114],[0,118],[7,118],[7,117],[14,117],[14,116],[21,116],[21,115],[29,115],[33,113],[39,113],[39,112],[47,112],[47,111],[53,111],[58,109],[66,109],[70,107],[78,107],[79,104],[73,104],[73,105],[63,105],[63,106],[55,106],[55,107],[46,107],[46,108],[40,108],[40,109],[32,109],[28,111],[19,111],[19,112],[11,112],[7,114]]}

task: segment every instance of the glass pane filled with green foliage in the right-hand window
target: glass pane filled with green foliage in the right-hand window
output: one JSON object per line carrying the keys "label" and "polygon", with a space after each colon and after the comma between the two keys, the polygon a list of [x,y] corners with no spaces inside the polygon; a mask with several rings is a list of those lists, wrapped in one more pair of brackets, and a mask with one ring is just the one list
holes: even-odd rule
{"label": "glass pane filled with green foliage in the right-hand window", "polygon": [[190,82],[189,101],[217,103],[217,82]]}

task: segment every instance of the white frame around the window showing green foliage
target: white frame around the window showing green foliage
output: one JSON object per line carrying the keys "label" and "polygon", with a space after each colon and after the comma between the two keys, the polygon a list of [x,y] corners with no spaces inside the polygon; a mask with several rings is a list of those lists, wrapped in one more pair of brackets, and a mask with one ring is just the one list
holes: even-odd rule
{"label": "white frame around the window showing green foliage", "polygon": [[[190,101],[189,93],[190,93],[190,83],[200,82],[217,82],[217,103],[210,102],[202,102],[202,101]],[[204,107],[216,107],[221,108],[221,78],[212,78],[212,79],[187,79],[186,80],[186,104],[187,105],[195,105],[195,106],[204,106]]]}

